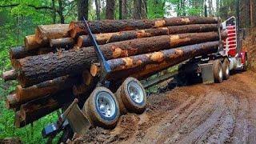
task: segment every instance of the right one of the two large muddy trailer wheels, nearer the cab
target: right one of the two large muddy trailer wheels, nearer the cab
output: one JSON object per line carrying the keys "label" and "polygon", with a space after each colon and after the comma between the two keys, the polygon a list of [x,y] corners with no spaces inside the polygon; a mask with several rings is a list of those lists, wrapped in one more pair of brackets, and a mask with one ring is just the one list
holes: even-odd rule
{"label": "right one of the two large muddy trailer wheels, nearer the cab", "polygon": [[136,78],[126,78],[117,92],[118,102],[126,110],[142,114],[146,109],[146,91]]}

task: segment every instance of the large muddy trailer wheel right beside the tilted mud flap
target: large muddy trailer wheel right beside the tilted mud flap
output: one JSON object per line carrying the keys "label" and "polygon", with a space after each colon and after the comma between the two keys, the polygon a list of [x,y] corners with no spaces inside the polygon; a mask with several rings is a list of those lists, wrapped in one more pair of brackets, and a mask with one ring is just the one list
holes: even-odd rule
{"label": "large muddy trailer wheel right beside the tilted mud flap", "polygon": [[120,115],[118,101],[105,87],[96,87],[83,107],[93,126],[114,128]]}

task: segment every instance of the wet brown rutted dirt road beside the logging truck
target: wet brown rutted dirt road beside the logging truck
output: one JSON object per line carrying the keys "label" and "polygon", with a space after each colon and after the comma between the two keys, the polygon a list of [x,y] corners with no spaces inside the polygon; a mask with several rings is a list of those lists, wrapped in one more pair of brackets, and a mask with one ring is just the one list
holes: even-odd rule
{"label": "wet brown rutted dirt road beside the logging truck", "polygon": [[144,114],[123,115],[114,130],[93,128],[74,142],[256,143],[256,74],[221,84],[152,94]]}

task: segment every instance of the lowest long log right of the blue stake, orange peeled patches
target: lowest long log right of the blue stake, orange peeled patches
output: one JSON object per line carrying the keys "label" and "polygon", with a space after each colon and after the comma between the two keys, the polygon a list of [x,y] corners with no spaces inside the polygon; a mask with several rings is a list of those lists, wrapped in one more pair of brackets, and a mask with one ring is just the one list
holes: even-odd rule
{"label": "lowest long log right of the blue stake, orange peeled patches", "polygon": [[218,51],[218,44],[218,41],[204,42],[151,54],[109,60],[108,63],[114,71],[110,74],[111,77],[107,79],[116,81],[130,76],[138,79],[146,78],[187,59],[215,53]]}

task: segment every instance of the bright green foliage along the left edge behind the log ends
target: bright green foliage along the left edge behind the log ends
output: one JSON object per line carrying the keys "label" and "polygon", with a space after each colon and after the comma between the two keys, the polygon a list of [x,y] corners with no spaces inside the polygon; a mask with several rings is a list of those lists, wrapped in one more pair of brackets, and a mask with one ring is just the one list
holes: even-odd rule
{"label": "bright green foliage along the left edge behind the log ends", "polygon": [[[51,14],[47,10],[35,10],[27,6],[45,5],[45,1],[13,0],[1,1],[0,6],[6,6],[20,2],[21,5],[0,9],[0,74],[10,70],[9,49],[11,46],[21,46],[25,35],[34,34],[34,27],[42,24],[50,24]],[[5,99],[11,91],[14,91],[17,82],[3,82],[0,78],[0,138],[18,137],[24,143],[45,143],[41,130],[47,123],[54,122],[57,114],[49,114],[22,129],[14,127],[14,112],[6,110]]]}

